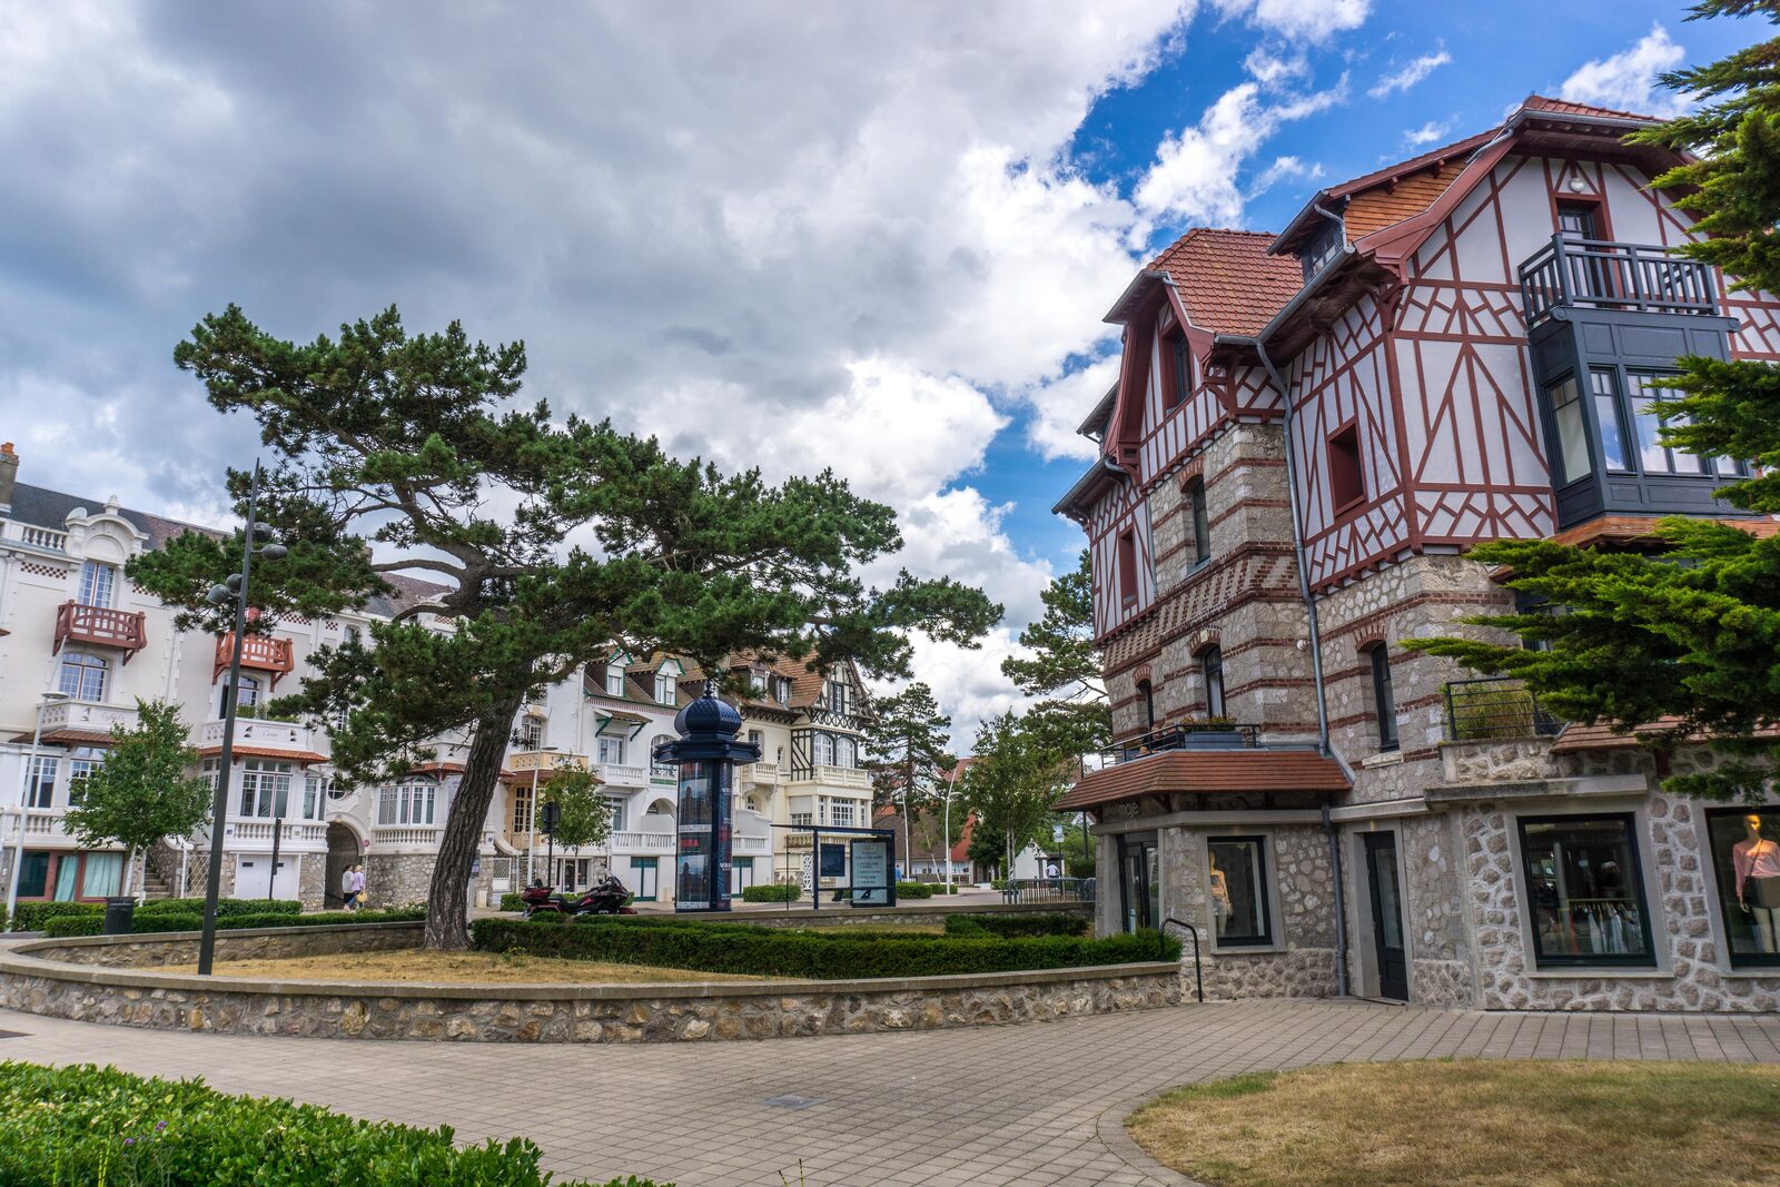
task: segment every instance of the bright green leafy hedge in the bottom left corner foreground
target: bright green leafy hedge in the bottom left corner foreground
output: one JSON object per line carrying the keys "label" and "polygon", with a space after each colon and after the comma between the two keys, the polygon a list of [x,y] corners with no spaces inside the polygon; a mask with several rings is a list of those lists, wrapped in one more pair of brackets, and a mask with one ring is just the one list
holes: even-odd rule
{"label": "bright green leafy hedge in the bottom left corner foreground", "polygon": [[[450,1126],[358,1121],[317,1105],[224,1096],[201,1080],[0,1062],[0,1183],[217,1187],[543,1187],[523,1137],[456,1146]],[[561,1182],[555,1187],[591,1187]],[[603,1187],[657,1187],[614,1178]],[[673,1187],[664,1183],[660,1187]]]}

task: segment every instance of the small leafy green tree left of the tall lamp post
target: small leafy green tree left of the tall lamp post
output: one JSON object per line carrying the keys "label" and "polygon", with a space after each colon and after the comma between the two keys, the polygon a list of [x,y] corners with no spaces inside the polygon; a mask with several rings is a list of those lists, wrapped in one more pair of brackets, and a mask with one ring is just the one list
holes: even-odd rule
{"label": "small leafy green tree left of the tall lamp post", "polygon": [[[180,710],[167,701],[137,701],[137,723],[112,726],[105,762],[68,808],[68,829],[87,849],[123,845],[125,879],[135,854],[166,836],[185,836],[210,815],[210,783],[189,774],[198,751],[187,744]],[[130,892],[128,883],[125,893]]]}

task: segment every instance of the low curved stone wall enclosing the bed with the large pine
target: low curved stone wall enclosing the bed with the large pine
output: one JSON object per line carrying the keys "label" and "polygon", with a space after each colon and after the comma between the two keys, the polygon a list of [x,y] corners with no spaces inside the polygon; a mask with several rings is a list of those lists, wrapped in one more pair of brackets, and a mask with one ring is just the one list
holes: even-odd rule
{"label": "low curved stone wall enclosing the bed with the large pine", "polygon": [[[418,924],[271,927],[217,936],[221,959],[413,947]],[[459,986],[214,979],[198,933],[21,943],[0,954],[0,1005],[116,1025],[224,1034],[470,1043],[664,1043],[933,1030],[1175,1005],[1173,963],[870,981]]]}

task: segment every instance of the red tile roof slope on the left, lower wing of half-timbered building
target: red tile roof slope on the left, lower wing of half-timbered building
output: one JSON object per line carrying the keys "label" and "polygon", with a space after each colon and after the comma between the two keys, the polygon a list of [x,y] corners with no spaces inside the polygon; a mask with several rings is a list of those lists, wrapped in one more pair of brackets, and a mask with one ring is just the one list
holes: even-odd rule
{"label": "red tile roof slope on the left, lower wing of half-timbered building", "polygon": [[1298,295],[1305,278],[1296,260],[1269,256],[1273,235],[1194,228],[1150,262],[1168,272],[1187,317],[1219,335],[1255,335]]}

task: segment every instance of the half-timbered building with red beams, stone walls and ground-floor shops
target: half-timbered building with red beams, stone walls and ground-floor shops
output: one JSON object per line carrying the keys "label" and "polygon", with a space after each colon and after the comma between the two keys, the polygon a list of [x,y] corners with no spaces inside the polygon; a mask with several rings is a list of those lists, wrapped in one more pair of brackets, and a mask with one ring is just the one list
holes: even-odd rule
{"label": "half-timbered building with red beams, stone walls and ground-floor shops", "polygon": [[1098,927],[1193,929],[1209,995],[1780,1005],[1780,808],[1677,801],[1636,737],[1399,646],[1513,603],[1479,541],[1737,516],[1739,463],[1655,440],[1663,377],[1780,358],[1780,303],[1666,253],[1695,231],[1648,123],[1529,98],[1278,235],[1193,230],[1112,304],[1057,511],[1118,744],[1064,808]]}

